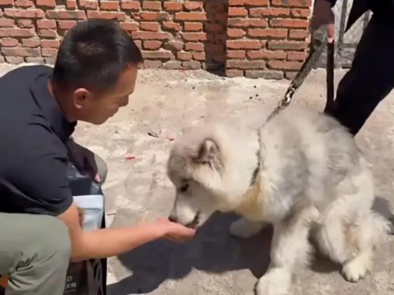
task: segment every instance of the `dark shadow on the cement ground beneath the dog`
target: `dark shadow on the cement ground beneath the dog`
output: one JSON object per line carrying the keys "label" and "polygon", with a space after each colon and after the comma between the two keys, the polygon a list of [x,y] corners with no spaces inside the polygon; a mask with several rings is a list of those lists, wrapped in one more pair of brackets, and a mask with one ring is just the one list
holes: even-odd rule
{"label": "dark shadow on the cement ground beneath the dog", "polygon": [[[387,200],[377,197],[374,207],[385,217],[394,217]],[[109,285],[109,294],[150,293],[166,279],[186,277],[193,268],[207,273],[249,269],[256,278],[263,276],[269,264],[273,229],[267,227],[250,239],[236,239],[228,233],[230,223],[236,219],[233,214],[215,213],[192,241],[178,244],[161,239],[118,257],[133,274]],[[310,268],[320,273],[340,270],[339,265],[318,251],[315,251]]]}

